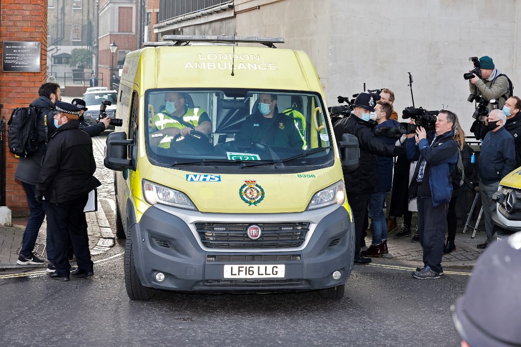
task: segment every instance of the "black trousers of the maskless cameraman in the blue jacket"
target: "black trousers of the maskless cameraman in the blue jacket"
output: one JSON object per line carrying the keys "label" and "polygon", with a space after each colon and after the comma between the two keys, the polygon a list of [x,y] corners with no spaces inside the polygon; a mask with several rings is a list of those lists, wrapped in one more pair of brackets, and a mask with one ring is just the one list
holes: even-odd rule
{"label": "black trousers of the maskless cameraman in the blue jacket", "polygon": [[424,264],[429,265],[433,271],[440,272],[449,204],[442,203],[434,207],[431,197],[418,198],[417,204],[418,236],[424,250]]}

